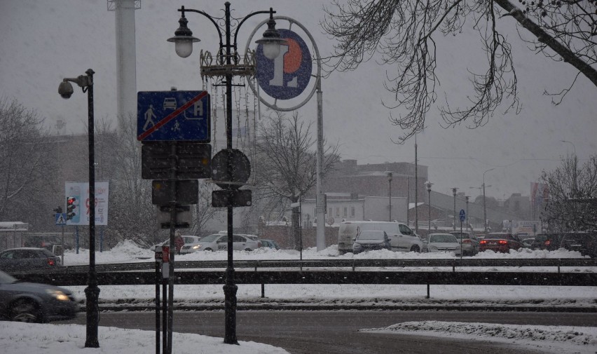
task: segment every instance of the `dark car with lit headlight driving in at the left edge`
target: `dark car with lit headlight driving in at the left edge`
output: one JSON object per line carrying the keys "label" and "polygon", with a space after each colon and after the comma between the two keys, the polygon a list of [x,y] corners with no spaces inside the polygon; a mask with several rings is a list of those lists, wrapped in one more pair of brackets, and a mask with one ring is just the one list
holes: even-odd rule
{"label": "dark car with lit headlight driving in at the left edge", "polygon": [[78,304],[69,290],[36,282],[20,282],[0,271],[0,318],[50,322],[69,320],[78,311]]}

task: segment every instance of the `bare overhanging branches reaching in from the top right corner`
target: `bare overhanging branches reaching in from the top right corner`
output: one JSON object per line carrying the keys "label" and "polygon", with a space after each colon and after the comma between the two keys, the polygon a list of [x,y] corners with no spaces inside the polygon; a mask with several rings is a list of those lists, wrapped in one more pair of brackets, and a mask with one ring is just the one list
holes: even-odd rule
{"label": "bare overhanging branches reaching in from the top right corner", "polygon": [[438,37],[460,34],[467,22],[481,36],[487,64],[485,72],[469,70],[474,95],[467,97],[467,107],[450,107],[447,98],[446,106],[439,107],[448,126],[466,122],[470,128],[479,127],[497,107],[518,111],[512,48],[497,29],[498,22],[507,20],[505,16],[530,32],[530,39],[519,33],[535,51],[568,62],[597,86],[597,2],[519,2],[526,8],[521,10],[509,0],[334,0],[331,8],[324,8],[327,18],[322,22],[323,29],[338,39],[327,64],[331,70],[355,70],[378,53],[381,64],[396,67],[397,74],[387,74],[385,86],[397,102],[388,107],[409,111],[405,116],[390,116],[394,125],[406,130],[399,137],[402,142],[425,128],[425,114],[437,100]]}

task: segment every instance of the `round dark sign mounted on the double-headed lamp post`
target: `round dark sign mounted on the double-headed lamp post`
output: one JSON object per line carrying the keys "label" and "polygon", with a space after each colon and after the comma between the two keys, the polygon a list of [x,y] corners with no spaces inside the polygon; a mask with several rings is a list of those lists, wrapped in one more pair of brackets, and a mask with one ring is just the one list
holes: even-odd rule
{"label": "round dark sign mounted on the double-headed lamp post", "polygon": [[220,150],[212,158],[212,181],[221,189],[238,189],[250,175],[249,158],[238,149]]}

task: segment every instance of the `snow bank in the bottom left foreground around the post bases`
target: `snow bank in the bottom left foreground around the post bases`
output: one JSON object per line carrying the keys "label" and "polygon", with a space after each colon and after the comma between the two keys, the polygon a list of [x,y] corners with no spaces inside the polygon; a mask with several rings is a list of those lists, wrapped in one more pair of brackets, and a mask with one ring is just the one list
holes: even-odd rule
{"label": "snow bank in the bottom left foreground around the post bases", "polygon": [[[99,348],[85,346],[83,325],[38,325],[0,322],[0,346],[3,353],[78,354],[154,353],[156,332],[140,329],[99,327]],[[268,344],[240,341],[239,346],[224,344],[221,338],[200,334],[173,333],[172,351],[177,354],[288,354]]]}

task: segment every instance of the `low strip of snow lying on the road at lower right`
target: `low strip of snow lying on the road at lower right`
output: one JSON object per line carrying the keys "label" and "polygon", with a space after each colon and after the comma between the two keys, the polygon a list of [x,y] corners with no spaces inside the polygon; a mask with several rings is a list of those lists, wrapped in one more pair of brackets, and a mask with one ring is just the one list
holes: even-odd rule
{"label": "low strip of snow lying on the road at lower right", "polygon": [[[361,329],[360,332],[385,332],[425,336],[453,337],[472,340],[501,340],[542,342],[542,347],[577,346],[575,353],[594,353],[597,348],[597,327],[500,325],[421,321],[402,322],[385,328]],[[534,343],[537,346],[536,343]],[[553,348],[552,348],[553,349]],[[592,351],[591,351],[592,350]]]}

